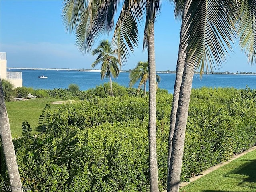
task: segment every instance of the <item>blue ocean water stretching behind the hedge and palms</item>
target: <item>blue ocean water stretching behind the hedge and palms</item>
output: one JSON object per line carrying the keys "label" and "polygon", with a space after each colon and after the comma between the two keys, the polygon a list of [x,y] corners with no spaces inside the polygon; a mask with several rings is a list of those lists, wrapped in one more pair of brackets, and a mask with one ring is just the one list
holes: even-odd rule
{"label": "blue ocean water stretching behind the hedge and palms", "polygon": [[[77,84],[80,90],[88,90],[95,88],[97,85],[109,82],[108,79],[101,80],[100,72],[83,72],[83,71],[68,71],[68,70],[16,70],[8,69],[7,71],[21,71],[23,86],[32,87],[34,89],[54,89],[68,88],[69,84]],[[47,79],[39,79],[38,76],[48,76]],[[161,81],[159,88],[168,90],[173,93],[175,74],[158,73]],[[118,78],[113,79],[122,86],[128,87],[129,73],[121,72]],[[200,75],[194,74],[192,88],[201,87],[233,87],[244,89],[246,85],[251,89],[256,89],[256,75],[240,75],[240,74],[204,74],[202,79]],[[134,85],[138,87],[138,83]],[[148,83],[147,88],[148,90]]]}

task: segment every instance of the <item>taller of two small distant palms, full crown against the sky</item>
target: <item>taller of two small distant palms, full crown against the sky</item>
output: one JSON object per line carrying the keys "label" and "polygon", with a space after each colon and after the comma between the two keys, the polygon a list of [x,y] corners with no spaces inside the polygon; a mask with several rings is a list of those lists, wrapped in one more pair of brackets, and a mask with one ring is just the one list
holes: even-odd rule
{"label": "taller of two small distant palms, full crown against the sky", "polygon": [[96,61],[92,63],[92,68],[97,64],[101,63],[101,79],[109,78],[111,96],[114,97],[112,89],[111,75],[116,78],[119,75],[118,64],[121,65],[120,60],[118,60],[114,55],[116,51],[112,50],[111,43],[108,40],[100,41],[98,47],[92,50],[92,55],[98,54]]}

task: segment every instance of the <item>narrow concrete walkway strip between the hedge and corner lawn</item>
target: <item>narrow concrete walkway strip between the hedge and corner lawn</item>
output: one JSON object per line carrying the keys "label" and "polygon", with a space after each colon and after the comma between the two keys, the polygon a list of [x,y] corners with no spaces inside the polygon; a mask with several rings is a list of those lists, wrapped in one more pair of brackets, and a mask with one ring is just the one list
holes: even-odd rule
{"label": "narrow concrete walkway strip between the hedge and corner lawn", "polygon": [[[229,162],[231,162],[231,161],[233,161],[233,160],[235,160],[235,159],[237,159],[237,158],[239,158],[239,157],[241,157],[241,156],[243,156],[243,155],[245,155],[245,154],[247,154],[247,153],[249,153],[249,152],[251,152],[251,151],[253,151],[253,150],[256,150],[256,146],[254,146],[254,147],[252,147],[252,148],[250,148],[250,149],[248,149],[248,150],[246,150],[246,151],[244,151],[244,152],[242,152],[242,153],[240,153],[240,154],[238,154],[238,155],[232,157],[232,158],[231,158],[230,160],[228,160],[228,161],[225,161],[225,162],[223,162],[223,163],[220,163],[220,164],[218,164],[218,165],[215,165],[215,166],[209,168],[208,170],[203,171],[203,172],[202,172],[200,175],[198,175],[198,176],[194,176],[194,177],[192,177],[192,178],[189,178],[189,180],[190,180],[190,182],[193,182],[193,181],[195,181],[195,180],[201,178],[202,176],[204,176],[204,175],[206,175],[206,174],[208,174],[208,173],[210,173],[210,172],[212,172],[212,171],[214,171],[214,170],[216,170],[216,169],[218,169],[218,168],[220,168],[220,167],[222,167],[222,166],[228,164]],[[182,183],[180,183],[180,187],[184,187],[184,186],[186,186],[186,185],[188,185],[188,184],[190,184],[190,183],[188,183],[188,182],[182,182]],[[167,192],[167,190],[164,190],[163,192]]]}

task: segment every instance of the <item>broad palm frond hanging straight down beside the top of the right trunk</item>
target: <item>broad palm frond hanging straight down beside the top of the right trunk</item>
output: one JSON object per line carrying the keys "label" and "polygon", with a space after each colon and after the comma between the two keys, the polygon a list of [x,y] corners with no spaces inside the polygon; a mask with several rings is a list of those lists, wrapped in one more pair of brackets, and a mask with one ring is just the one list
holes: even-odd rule
{"label": "broad palm frond hanging straight down beside the top of the right trunk", "polygon": [[228,49],[235,37],[233,20],[236,17],[232,1],[191,1],[186,18],[185,39],[187,60],[194,69],[200,68],[202,74],[219,68],[225,61]]}

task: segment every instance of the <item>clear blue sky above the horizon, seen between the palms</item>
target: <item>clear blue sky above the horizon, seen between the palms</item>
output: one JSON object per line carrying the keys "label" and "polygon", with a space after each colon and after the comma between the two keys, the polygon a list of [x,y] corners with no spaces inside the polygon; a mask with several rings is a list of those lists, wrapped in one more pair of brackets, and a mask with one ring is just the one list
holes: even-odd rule
{"label": "clear blue sky above the horizon, seen between the palms", "polygon": [[[61,18],[62,1],[0,1],[0,52],[7,53],[8,67],[34,68],[84,68],[90,69],[96,56],[82,55],[75,46],[74,34],[65,32]],[[130,55],[122,68],[134,68],[136,62],[147,60],[140,46]],[[176,70],[180,22],[176,22],[173,7],[164,2],[155,24],[156,70]],[[102,36],[101,39],[111,36]],[[95,44],[95,48],[98,42]],[[238,48],[227,57],[217,72],[256,72]],[[96,67],[100,68],[100,66]]]}

